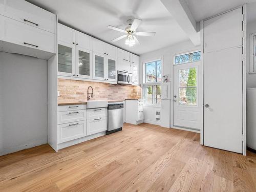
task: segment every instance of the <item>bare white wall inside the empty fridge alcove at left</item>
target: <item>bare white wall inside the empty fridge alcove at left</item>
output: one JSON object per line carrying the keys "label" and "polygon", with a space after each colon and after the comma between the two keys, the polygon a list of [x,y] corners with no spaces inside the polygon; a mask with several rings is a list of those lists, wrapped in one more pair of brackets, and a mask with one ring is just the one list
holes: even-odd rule
{"label": "bare white wall inside the empty fridge alcove at left", "polygon": [[0,52],[0,155],[47,143],[47,61]]}

